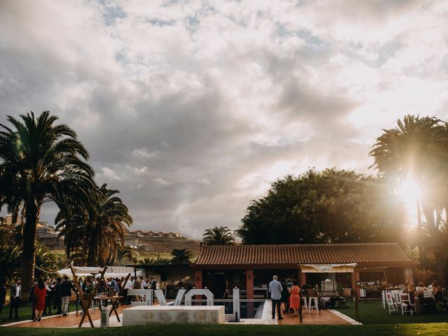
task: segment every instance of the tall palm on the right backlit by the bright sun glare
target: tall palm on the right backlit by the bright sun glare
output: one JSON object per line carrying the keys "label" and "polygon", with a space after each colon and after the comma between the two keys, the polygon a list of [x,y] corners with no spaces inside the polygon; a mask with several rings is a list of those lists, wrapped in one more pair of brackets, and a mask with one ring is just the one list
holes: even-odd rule
{"label": "tall palm on the right backlit by the bright sun glare", "polygon": [[[423,210],[426,232],[437,259],[438,279],[444,283],[447,267],[446,242],[440,237],[444,228],[442,211],[448,205],[448,131],[437,118],[405,116],[392,130],[383,130],[370,156],[379,174],[393,184],[412,180],[423,188],[417,210]],[[434,216],[436,214],[436,216]],[[420,217],[420,216],[418,216]],[[419,218],[420,221],[420,218]]]}

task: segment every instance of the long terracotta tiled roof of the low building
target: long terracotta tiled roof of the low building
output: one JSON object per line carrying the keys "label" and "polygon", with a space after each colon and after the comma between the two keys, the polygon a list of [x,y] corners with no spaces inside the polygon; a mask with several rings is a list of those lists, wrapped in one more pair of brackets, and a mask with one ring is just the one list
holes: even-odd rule
{"label": "long terracotta tiled roof of the low building", "polygon": [[397,243],[202,246],[197,266],[412,262]]}

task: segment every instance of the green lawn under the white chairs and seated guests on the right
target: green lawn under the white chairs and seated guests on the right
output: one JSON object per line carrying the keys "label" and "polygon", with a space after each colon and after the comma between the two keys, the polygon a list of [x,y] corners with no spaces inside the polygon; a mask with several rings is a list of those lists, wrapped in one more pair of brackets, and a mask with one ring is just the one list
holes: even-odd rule
{"label": "green lawn under the white chairs and seated guests on the right", "polygon": [[[355,318],[355,303],[349,301],[349,308],[337,309],[342,314]],[[448,322],[448,311],[438,311],[435,314],[401,315],[389,314],[388,309],[381,308],[380,300],[369,300],[367,304],[359,302],[359,318],[363,324],[385,324],[385,323],[433,323]]]}

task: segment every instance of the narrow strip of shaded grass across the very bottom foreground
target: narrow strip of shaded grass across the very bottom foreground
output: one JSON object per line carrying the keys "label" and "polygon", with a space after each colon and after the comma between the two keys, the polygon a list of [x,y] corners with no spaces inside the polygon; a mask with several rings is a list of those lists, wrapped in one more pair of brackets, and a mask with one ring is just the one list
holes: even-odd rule
{"label": "narrow strip of shaded grass across the very bottom foreground", "polygon": [[448,323],[398,325],[139,325],[123,328],[0,328],[1,335],[151,335],[151,336],[407,336],[448,335]]}

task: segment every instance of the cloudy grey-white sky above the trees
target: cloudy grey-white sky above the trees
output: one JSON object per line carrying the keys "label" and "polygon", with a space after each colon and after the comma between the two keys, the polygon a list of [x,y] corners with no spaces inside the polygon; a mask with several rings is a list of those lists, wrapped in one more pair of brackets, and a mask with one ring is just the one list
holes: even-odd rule
{"label": "cloudy grey-white sky above the trees", "polygon": [[136,229],[235,229],[271,181],[374,174],[381,129],[448,118],[448,1],[2,0],[0,31],[0,123],[71,125]]}

